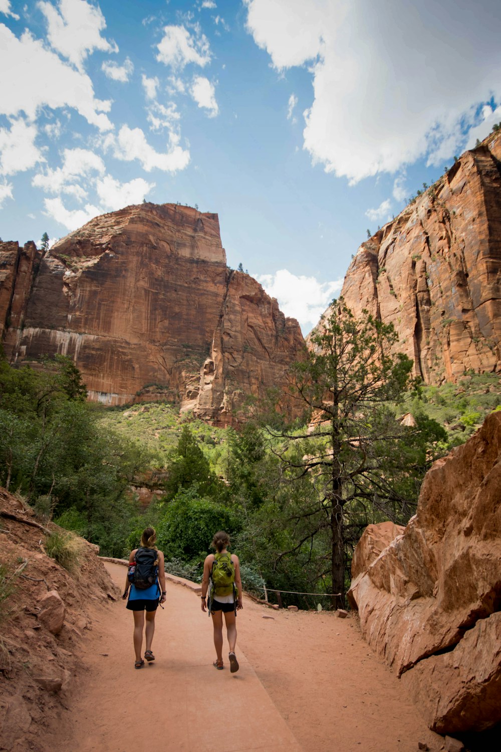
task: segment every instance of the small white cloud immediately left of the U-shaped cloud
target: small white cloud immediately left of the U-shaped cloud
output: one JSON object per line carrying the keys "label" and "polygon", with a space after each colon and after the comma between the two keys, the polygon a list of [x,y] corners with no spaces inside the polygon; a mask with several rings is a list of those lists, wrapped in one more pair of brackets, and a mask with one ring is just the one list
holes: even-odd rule
{"label": "small white cloud immediately left of the U-shaped cloud", "polygon": [[81,201],[87,195],[81,185],[83,180],[104,172],[104,162],[98,154],[87,149],[65,149],[62,167],[36,174],[32,185],[46,193],[68,193]]}

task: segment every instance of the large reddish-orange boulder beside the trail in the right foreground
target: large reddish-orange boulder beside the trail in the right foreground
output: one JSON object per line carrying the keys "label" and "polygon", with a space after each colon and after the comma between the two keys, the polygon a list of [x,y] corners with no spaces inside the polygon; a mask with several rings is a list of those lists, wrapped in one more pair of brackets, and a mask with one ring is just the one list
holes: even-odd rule
{"label": "large reddish-orange boulder beside the trail in the right foreground", "polygon": [[418,511],[349,599],[435,731],[501,720],[501,412],[424,478]]}

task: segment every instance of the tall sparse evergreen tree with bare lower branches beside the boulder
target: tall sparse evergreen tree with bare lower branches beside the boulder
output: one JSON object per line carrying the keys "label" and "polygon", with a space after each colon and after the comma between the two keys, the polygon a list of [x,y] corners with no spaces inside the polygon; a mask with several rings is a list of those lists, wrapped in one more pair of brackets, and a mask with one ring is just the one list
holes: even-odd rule
{"label": "tall sparse evergreen tree with bare lower branches beside the boulder", "polygon": [[[302,536],[295,550],[327,535],[331,587],[344,602],[346,515],[365,503],[383,511],[385,502],[403,502],[391,484],[392,462],[403,429],[388,408],[409,383],[412,361],[391,356],[393,326],[373,318],[355,319],[343,299],[312,337],[312,351],[291,368],[291,391],[306,406],[312,433],[271,431],[285,438],[278,451],[289,477],[311,478],[317,494],[297,510]],[[299,447],[294,447],[299,443]],[[307,524],[306,524],[307,521]]]}

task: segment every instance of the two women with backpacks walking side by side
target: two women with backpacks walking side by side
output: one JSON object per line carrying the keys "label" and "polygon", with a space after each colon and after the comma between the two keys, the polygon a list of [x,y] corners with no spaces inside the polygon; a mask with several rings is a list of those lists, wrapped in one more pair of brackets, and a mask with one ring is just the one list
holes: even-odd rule
{"label": "two women with backpacks walking side by side", "polygon": [[[152,653],[152,640],[155,633],[155,614],[160,603],[165,601],[165,569],[164,554],[155,547],[156,533],[152,527],[147,527],[141,535],[140,547],[134,548],[128,557],[127,580],[122,599],[128,597],[127,608],[134,614],[134,653],[136,661],[134,668],[141,669],[144,660],[155,660]],[[230,554],[228,547],[230,538],[220,530],[213,538],[216,553],[210,553],[204,561],[204,577],[202,579],[202,611],[210,613],[213,620],[214,647],[216,660],[213,666],[224,669],[222,660],[222,617],[225,616],[226,634],[228,638],[231,673],[239,669],[235,645],[237,643],[237,610],[242,605],[242,580],[240,578],[240,562],[238,556]],[[130,590],[129,590],[130,589]],[[208,602],[207,602],[208,596]],[[144,658],[143,628],[144,613],[146,611],[146,650]]]}

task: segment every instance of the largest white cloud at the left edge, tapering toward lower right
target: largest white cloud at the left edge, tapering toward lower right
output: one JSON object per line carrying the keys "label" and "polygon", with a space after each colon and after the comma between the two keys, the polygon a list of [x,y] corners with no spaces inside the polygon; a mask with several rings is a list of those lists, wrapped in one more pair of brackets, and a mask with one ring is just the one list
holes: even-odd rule
{"label": "largest white cloud at the left edge, tapering toward lower right", "polygon": [[113,128],[103,114],[110,110],[110,102],[95,99],[90,78],[46,50],[29,32],[18,39],[0,24],[0,70],[9,71],[8,76],[0,76],[0,114],[24,111],[35,120],[44,105],[53,109],[68,106],[102,131]]}

